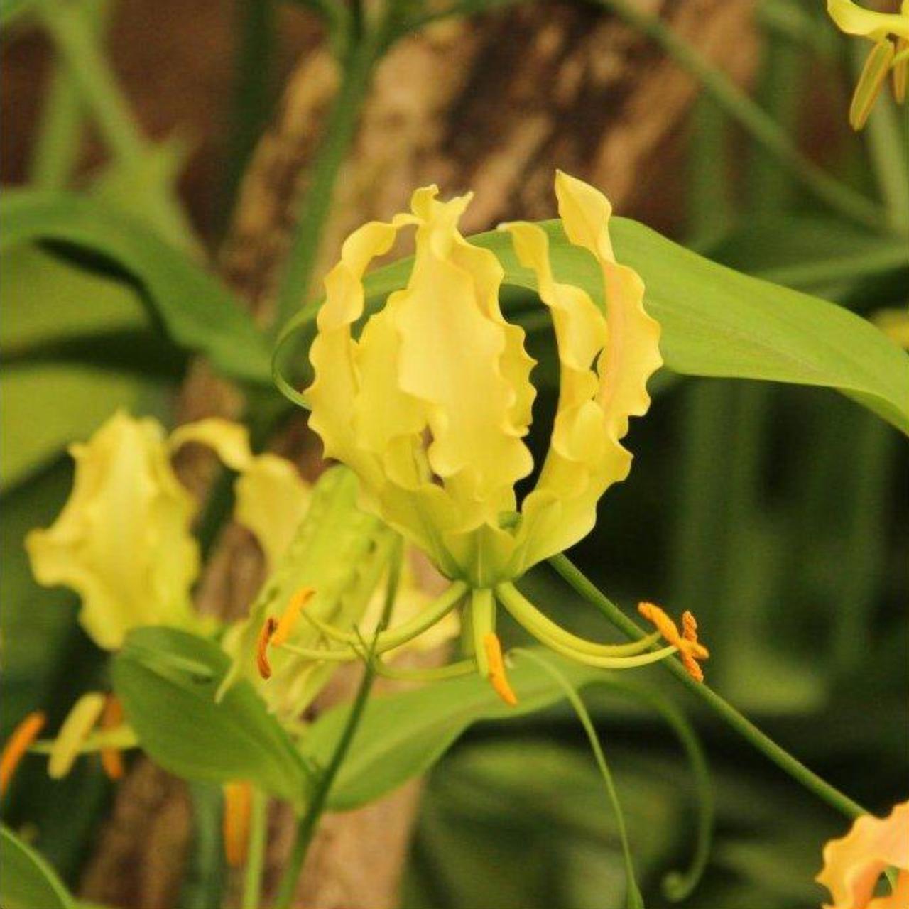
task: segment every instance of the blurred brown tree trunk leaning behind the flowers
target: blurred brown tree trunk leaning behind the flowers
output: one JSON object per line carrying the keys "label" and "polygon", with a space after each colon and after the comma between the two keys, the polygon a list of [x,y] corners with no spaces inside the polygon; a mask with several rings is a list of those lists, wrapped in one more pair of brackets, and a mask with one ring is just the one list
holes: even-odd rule
{"label": "blurred brown tree trunk leaning behind the flowers", "polygon": [[[754,61],[749,0],[646,0],[646,5],[736,79],[749,74]],[[273,297],[336,84],[328,51],[307,53],[245,179],[222,266],[258,312]],[[671,198],[678,184],[666,165],[666,149],[694,93],[691,80],[653,45],[586,6],[524,5],[408,38],[375,74],[355,149],[337,185],[319,271],[350,229],[401,210],[412,189],[427,183],[439,184],[446,194],[475,190],[465,232],[506,217],[552,216],[557,166],[600,185],[618,210],[649,210],[658,220],[664,198]],[[202,366],[181,402],[185,418],[235,409],[232,396]],[[297,429],[279,445],[301,454],[306,436]],[[204,607],[241,613],[260,577],[255,543],[229,529],[205,577]],[[350,685],[335,686],[324,704],[335,699],[338,688],[349,691]],[[152,788],[164,793],[152,801],[146,795],[150,779],[156,781]],[[309,909],[394,905],[416,797],[414,784],[362,811],[325,818],[298,904]],[[157,869],[154,881],[147,868],[163,849],[179,854],[188,839],[189,814],[175,805],[185,805],[181,787],[140,763],[121,786],[85,876],[86,896],[142,909],[172,905],[180,863]],[[167,829],[158,836],[160,824],[135,824],[137,811],[155,817],[168,812]],[[267,877],[273,885],[292,834],[285,812],[275,811],[271,833]]]}

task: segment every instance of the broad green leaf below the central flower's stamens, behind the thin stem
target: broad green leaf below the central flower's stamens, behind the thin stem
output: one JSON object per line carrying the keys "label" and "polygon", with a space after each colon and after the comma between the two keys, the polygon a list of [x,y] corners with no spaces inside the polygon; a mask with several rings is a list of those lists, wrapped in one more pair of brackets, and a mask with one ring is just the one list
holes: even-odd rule
{"label": "broad green leaf below the central flower's stamens, behind the thin stem", "polygon": [[[578,687],[608,676],[602,669],[553,660]],[[337,811],[356,808],[423,774],[479,720],[530,714],[564,697],[552,676],[529,660],[516,664],[508,680],[518,696],[516,707],[504,704],[477,675],[372,697],[329,794],[330,806]],[[349,704],[335,707],[316,720],[304,740],[308,757],[328,763],[349,710]]]}

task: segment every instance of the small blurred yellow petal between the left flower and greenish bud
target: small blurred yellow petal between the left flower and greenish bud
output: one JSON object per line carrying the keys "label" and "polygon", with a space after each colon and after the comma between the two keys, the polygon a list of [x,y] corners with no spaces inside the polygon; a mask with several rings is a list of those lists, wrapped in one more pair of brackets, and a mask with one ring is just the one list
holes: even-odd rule
{"label": "small blurred yellow petal between the left flower and greenish bud", "polygon": [[235,518],[255,534],[275,571],[309,507],[311,487],[294,464],[276,454],[260,454],[235,484]]}

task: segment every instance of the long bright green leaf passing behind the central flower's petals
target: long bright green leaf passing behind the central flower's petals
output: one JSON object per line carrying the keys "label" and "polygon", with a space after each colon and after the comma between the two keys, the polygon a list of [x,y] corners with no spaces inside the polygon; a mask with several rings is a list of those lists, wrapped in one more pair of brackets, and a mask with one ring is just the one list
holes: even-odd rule
{"label": "long bright green leaf passing behind the central flower's petals", "polygon": [[[543,226],[557,278],[583,286],[602,304],[593,257],[567,243],[559,222]],[[909,357],[874,325],[824,300],[717,265],[627,218],[614,218],[610,231],[616,258],[644,278],[647,308],[663,327],[660,346],[669,369],[835,388],[909,433]],[[491,231],[471,239],[498,257],[506,285],[524,291],[503,295],[506,315],[536,327],[540,314],[526,294],[535,295],[534,276],[517,264],[510,238]],[[410,265],[404,259],[368,275],[367,312],[405,285]],[[285,394],[290,386],[291,397],[311,376],[305,351],[315,311],[307,306],[292,320],[275,352],[275,377]]]}

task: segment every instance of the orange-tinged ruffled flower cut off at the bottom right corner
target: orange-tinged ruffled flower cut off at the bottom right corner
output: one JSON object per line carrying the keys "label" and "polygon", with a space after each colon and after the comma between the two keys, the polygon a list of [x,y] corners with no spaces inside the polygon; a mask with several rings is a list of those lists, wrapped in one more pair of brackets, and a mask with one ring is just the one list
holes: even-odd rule
{"label": "orange-tinged ruffled flower cut off at the bottom right corner", "polygon": [[[888,867],[899,869],[893,893],[874,898],[874,887]],[[905,909],[909,906],[909,802],[885,818],[864,814],[848,834],[824,846],[819,884],[833,902],[824,909]]]}

